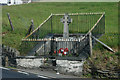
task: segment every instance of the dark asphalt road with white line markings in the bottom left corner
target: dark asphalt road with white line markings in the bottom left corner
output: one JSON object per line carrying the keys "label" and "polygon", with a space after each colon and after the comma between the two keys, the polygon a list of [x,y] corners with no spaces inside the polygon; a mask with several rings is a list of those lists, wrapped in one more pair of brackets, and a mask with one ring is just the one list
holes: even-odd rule
{"label": "dark asphalt road with white line markings in the bottom left corner", "polygon": [[[18,79],[25,79],[25,80],[52,80],[48,77],[45,76],[40,76],[32,73],[26,73],[22,71],[17,71],[17,70],[11,70],[8,68],[0,68],[0,76],[2,74],[2,79],[11,79],[11,80],[18,80]],[[2,72],[2,73],[1,73]]]}

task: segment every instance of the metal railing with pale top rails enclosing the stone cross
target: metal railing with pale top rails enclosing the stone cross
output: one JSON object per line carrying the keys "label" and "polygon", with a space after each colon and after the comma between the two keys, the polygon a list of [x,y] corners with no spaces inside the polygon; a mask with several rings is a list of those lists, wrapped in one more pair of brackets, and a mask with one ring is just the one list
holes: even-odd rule
{"label": "metal railing with pale top rails enclosing the stone cross", "polygon": [[[66,57],[88,57],[89,33],[96,38],[105,33],[105,13],[68,14],[73,19],[69,25],[69,33],[74,38],[66,40],[60,39],[63,34],[60,19],[63,15],[51,14],[37,29],[22,39],[21,53],[58,57],[60,48],[68,48],[69,55]],[[71,46],[67,47],[69,45]]]}

